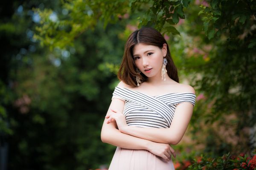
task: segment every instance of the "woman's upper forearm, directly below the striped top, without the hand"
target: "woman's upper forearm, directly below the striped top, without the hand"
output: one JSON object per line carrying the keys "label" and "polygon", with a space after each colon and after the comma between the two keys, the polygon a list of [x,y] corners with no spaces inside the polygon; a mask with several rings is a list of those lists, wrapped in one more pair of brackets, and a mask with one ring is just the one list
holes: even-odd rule
{"label": "woman's upper forearm, directly below the striped top, without the hand", "polygon": [[120,129],[122,133],[136,136],[138,138],[147,139],[158,143],[177,144],[180,140],[178,135],[170,133],[169,128],[143,128],[126,126]]}

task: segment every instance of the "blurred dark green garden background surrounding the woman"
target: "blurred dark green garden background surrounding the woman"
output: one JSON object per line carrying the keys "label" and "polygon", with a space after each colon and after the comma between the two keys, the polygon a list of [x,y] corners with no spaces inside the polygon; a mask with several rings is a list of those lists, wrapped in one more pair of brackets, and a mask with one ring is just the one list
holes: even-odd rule
{"label": "blurred dark green garden background surrounding the woman", "polygon": [[255,0],[0,4],[0,170],[108,168],[116,147],[101,141],[101,127],[125,41],[142,26],[163,34],[180,83],[196,90],[188,130],[172,146],[177,170],[218,169],[226,164],[223,156],[240,156],[238,164],[250,166],[256,148]]}

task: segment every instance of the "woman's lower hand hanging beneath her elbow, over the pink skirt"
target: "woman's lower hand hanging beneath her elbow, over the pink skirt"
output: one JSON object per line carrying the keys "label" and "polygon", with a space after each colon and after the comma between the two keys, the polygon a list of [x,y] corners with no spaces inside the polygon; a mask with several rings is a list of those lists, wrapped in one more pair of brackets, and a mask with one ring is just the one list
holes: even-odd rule
{"label": "woman's lower hand hanging beneath her elbow, over the pink skirt", "polygon": [[176,158],[175,150],[169,144],[150,142],[148,151],[162,157],[165,161],[171,160],[172,155]]}

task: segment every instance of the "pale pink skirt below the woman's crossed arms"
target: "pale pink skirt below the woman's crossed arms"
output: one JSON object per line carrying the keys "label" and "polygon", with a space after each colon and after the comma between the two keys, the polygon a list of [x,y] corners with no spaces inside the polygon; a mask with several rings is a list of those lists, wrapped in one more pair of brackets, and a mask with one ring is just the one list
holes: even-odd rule
{"label": "pale pink skirt below the woman's crossed arms", "polygon": [[108,170],[175,170],[172,159],[164,161],[148,150],[116,148]]}

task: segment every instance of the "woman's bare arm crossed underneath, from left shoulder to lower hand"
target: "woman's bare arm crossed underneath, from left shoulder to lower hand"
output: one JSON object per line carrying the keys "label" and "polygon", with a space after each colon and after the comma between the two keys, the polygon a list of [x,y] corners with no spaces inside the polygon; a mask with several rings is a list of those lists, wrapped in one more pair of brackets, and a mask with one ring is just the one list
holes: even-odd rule
{"label": "woman's bare arm crossed underneath, from left shoulder to lower hand", "polygon": [[[113,98],[109,108],[115,108],[122,113],[125,102],[121,99]],[[111,112],[108,109],[108,112]],[[107,113],[108,114],[108,113]],[[169,160],[171,154],[175,156],[175,151],[169,144],[152,142],[146,139],[137,138],[125,133],[120,132],[117,129],[116,122],[106,123],[104,120],[101,131],[102,142],[112,144],[117,147],[126,149],[144,149],[149,152],[162,157],[165,160]]]}

